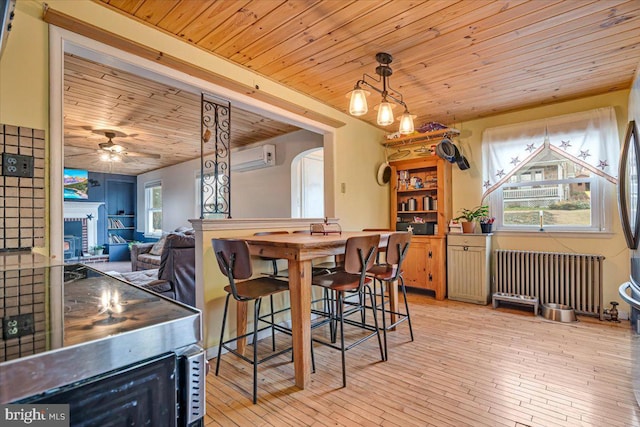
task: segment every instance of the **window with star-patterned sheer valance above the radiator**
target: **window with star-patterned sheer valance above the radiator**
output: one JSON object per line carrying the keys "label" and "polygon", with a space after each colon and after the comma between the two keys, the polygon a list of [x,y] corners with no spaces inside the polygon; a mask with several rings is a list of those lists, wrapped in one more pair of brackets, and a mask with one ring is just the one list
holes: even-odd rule
{"label": "window with star-patterned sheer valance above the radiator", "polygon": [[484,196],[497,231],[606,231],[617,183],[613,108],[486,129]]}

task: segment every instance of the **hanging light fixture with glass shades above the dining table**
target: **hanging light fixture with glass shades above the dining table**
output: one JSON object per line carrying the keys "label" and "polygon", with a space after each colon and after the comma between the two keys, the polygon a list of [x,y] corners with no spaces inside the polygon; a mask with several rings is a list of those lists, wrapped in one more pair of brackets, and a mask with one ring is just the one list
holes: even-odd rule
{"label": "hanging light fixture with glass shades above the dining table", "polygon": [[[375,109],[378,110],[377,120],[379,126],[389,126],[393,123],[393,108],[396,104],[402,105],[404,107],[404,113],[400,116],[400,128],[399,132],[403,135],[408,135],[413,133],[414,125],[413,119],[414,115],[409,113],[409,107],[404,103],[402,99],[402,94],[397,90],[393,89],[389,84],[389,77],[393,74],[393,70],[389,66],[393,61],[393,58],[390,54],[380,52],[376,54],[376,61],[378,61],[378,66],[376,67],[376,74],[379,78],[371,77],[368,74],[363,74],[362,79],[356,82],[355,87],[347,96],[350,97],[349,101],[349,114],[352,116],[362,116],[367,114],[369,108],[367,106],[367,96],[369,96],[369,92],[364,90],[362,86],[370,88],[380,95],[382,95],[382,100],[380,104],[378,104]],[[379,89],[369,83],[366,79],[374,80],[377,83],[382,83],[382,89]],[[393,95],[389,93],[389,90],[393,92]],[[399,98],[398,98],[399,97]],[[389,100],[393,101],[389,102]]]}

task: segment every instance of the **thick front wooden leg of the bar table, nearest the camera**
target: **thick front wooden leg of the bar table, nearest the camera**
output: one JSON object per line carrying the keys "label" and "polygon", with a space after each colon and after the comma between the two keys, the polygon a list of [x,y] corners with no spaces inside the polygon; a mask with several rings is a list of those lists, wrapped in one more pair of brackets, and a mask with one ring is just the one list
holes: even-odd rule
{"label": "thick front wooden leg of the bar table, nearest the camera", "polygon": [[296,385],[304,389],[311,382],[310,260],[289,260],[289,294]]}

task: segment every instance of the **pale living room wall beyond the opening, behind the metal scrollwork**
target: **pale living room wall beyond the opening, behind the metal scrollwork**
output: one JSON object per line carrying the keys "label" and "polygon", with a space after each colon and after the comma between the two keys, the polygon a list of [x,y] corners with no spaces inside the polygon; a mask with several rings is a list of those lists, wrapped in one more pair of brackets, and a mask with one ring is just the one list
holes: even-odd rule
{"label": "pale living room wall beyond the opening, behind the metal scrollwork", "polygon": [[[276,165],[270,168],[231,173],[231,215],[233,218],[289,218],[291,216],[291,161],[299,153],[322,147],[322,135],[300,130],[260,142],[276,146]],[[233,152],[231,154],[233,156]],[[144,231],[144,185],[162,181],[162,229],[190,226],[196,212],[195,179],[200,159],[138,175],[137,231]]]}

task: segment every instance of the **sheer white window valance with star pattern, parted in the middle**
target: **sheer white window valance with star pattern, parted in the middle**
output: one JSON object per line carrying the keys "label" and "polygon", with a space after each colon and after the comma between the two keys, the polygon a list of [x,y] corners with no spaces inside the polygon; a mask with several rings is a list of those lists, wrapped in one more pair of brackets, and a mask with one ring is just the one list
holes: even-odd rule
{"label": "sheer white window valance with star pattern, parted in the middle", "polygon": [[620,140],[613,107],[487,128],[482,134],[484,199],[542,150],[618,182]]}

